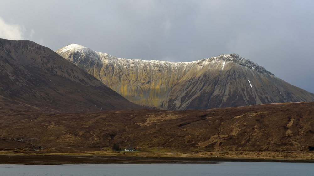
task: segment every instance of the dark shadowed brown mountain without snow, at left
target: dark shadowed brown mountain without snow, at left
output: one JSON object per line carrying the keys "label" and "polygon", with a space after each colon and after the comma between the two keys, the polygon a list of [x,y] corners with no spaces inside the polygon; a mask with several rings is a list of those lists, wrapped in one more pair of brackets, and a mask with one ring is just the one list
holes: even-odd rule
{"label": "dark shadowed brown mountain without snow, at left", "polygon": [[82,112],[143,108],[51,49],[0,39],[0,107]]}

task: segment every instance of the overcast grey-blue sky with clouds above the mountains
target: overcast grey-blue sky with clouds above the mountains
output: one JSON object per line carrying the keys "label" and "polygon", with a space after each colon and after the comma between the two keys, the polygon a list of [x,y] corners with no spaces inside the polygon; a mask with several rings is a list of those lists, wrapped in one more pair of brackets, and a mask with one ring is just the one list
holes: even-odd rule
{"label": "overcast grey-blue sky with clouds above the mountains", "polygon": [[194,61],[237,53],[314,93],[314,1],[4,1],[0,38]]}

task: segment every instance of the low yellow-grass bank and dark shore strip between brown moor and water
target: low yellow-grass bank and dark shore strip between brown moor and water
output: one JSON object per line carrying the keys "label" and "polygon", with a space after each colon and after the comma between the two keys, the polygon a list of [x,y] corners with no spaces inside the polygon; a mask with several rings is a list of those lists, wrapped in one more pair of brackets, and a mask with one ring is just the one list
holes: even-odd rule
{"label": "low yellow-grass bank and dark shore strip between brown moor and water", "polygon": [[314,152],[283,151],[200,151],[198,149],[146,148],[136,152],[112,151],[102,148],[85,150],[57,148],[26,151],[21,149],[0,151],[0,164],[100,164],[100,163],[214,163],[242,162],[304,162],[314,163]]}

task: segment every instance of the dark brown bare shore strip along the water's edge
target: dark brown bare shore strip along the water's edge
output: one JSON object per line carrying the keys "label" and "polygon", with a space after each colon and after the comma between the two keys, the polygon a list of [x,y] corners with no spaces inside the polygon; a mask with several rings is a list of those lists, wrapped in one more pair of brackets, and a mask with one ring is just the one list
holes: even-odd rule
{"label": "dark brown bare shore strip along the water's edge", "polygon": [[215,164],[217,162],[289,162],[314,163],[314,160],[249,159],[209,157],[134,157],[86,155],[0,155],[0,164],[60,165],[60,164]]}

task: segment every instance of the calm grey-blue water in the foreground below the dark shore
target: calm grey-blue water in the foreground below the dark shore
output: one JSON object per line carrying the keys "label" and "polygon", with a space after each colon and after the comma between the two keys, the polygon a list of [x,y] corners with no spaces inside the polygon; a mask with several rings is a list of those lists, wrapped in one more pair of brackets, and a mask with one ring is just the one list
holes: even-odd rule
{"label": "calm grey-blue water in the foreground below the dark shore", "polygon": [[314,175],[314,163],[0,165],[1,176],[297,176]]}

